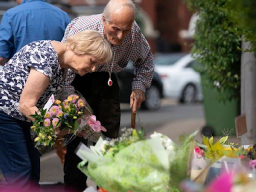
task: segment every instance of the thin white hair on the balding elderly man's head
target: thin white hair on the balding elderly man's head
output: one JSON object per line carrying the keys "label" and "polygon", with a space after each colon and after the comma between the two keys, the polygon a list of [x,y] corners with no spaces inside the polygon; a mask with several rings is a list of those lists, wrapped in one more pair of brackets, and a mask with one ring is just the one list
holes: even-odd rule
{"label": "thin white hair on the balding elderly man's head", "polygon": [[107,21],[111,21],[111,14],[122,7],[129,7],[135,17],[136,6],[131,0],[109,0],[103,10],[103,16]]}

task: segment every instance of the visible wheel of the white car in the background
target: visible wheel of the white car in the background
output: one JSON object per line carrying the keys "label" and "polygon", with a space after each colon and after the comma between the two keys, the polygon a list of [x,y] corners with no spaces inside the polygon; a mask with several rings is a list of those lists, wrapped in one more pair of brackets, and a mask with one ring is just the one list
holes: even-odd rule
{"label": "visible wheel of the white car in the background", "polygon": [[192,103],[196,99],[196,88],[193,84],[187,84],[182,91],[180,102],[182,103]]}

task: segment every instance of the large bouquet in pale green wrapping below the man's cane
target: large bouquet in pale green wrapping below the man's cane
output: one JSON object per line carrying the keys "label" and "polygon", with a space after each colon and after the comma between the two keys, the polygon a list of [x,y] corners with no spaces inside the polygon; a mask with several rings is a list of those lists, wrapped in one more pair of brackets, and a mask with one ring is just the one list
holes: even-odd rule
{"label": "large bouquet in pale green wrapping below the man's cane", "polygon": [[124,130],[119,138],[81,145],[78,168],[107,191],[179,191],[179,181],[189,175],[190,142],[197,132],[177,145],[161,133],[145,139],[143,129]]}

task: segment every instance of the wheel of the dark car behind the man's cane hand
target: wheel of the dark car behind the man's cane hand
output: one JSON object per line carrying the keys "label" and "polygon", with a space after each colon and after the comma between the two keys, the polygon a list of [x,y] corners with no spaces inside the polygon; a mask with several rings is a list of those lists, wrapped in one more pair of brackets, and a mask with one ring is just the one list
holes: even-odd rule
{"label": "wheel of the dark car behind the man's cane hand", "polygon": [[151,85],[145,92],[145,101],[142,102],[141,108],[147,110],[156,110],[161,105],[161,95],[155,85]]}

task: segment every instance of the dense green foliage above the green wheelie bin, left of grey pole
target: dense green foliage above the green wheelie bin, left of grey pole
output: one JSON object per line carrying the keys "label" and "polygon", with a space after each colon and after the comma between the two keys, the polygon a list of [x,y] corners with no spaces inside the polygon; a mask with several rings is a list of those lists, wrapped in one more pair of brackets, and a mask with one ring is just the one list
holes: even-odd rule
{"label": "dense green foliage above the green wheelie bin, left of grey pole", "polygon": [[202,64],[201,72],[221,94],[222,100],[240,95],[241,29],[230,19],[231,0],[185,0],[199,18],[191,49]]}

